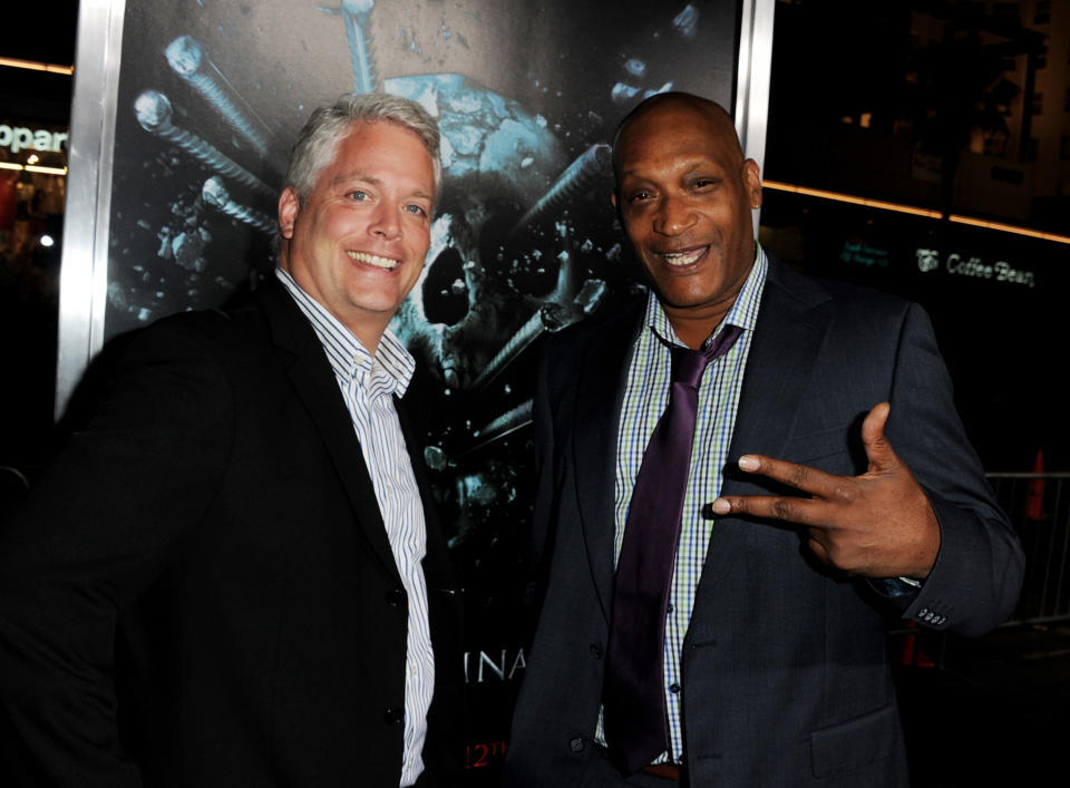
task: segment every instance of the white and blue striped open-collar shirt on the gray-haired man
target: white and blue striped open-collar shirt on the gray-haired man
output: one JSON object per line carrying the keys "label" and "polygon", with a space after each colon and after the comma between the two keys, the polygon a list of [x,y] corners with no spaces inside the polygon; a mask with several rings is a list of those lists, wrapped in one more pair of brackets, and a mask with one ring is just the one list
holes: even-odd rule
{"label": "white and blue striped open-collar shirt on the gray-haired man", "polygon": [[309,319],[334,370],[408,596],[405,750],[400,785],[410,786],[424,771],[421,753],[427,737],[427,710],[435,689],[435,655],[421,563],[427,551],[427,524],[398,411],[393,407],[393,395],[401,397],[405,393],[416,361],[389,329],[372,356],[348,328],[301,290],[289,273],[276,269],[275,274]]}

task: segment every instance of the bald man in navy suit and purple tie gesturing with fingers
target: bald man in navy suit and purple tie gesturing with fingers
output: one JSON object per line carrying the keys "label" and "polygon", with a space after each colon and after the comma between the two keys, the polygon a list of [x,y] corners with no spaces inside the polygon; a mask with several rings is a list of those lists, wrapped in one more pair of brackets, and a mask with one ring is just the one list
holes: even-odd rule
{"label": "bald man in navy suit and purple tie gesturing with fingers", "polygon": [[888,614],[981,633],[1022,577],[928,319],[757,245],[718,105],[648,99],[613,160],[650,293],[543,354],[507,784],[904,786]]}

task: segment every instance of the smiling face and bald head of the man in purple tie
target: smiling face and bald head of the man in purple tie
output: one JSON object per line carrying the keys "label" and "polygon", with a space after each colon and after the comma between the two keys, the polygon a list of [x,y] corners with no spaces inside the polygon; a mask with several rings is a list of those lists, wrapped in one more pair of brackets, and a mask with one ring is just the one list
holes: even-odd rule
{"label": "smiling face and bald head of the man in purple tie", "polygon": [[755,262],[758,165],[731,118],[696,97],[661,97],[614,146],[624,232],[682,341],[698,347],[728,312]]}

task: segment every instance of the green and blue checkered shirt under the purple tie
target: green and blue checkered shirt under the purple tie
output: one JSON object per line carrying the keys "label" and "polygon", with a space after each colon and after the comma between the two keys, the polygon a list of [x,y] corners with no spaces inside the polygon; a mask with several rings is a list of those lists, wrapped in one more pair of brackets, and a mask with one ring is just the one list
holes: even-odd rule
{"label": "green and blue checkered shirt under the purple tie", "polygon": [[[682,760],[680,654],[683,650],[683,638],[688,633],[691,621],[694,592],[702,575],[702,564],[706,561],[713,527],[710,521],[702,517],[701,512],[702,506],[713,500],[721,492],[722,469],[728,460],[732,429],[736,426],[739,392],[743,383],[743,370],[755,333],[767,269],[765,252],[758,247],[755,265],[736,303],[724,315],[717,331],[707,340],[709,343],[721,328],[729,323],[743,329],[736,344],[707,367],[699,386],[699,409],[691,453],[691,473],[683,500],[680,542],[677,546],[675,571],[669,597],[669,617],[665,621],[664,692],[669,710],[671,752],[662,755],[656,762],[679,763]],[[646,450],[646,444],[658,420],[669,405],[672,372],[670,346],[687,347],[672,330],[653,292],[646,301],[644,327],[632,349],[628,387],[624,391],[617,431],[614,488],[615,557],[621,554],[628,508],[631,504],[635,477],[643,460],[643,453]],[[605,743],[601,714],[596,739]]]}

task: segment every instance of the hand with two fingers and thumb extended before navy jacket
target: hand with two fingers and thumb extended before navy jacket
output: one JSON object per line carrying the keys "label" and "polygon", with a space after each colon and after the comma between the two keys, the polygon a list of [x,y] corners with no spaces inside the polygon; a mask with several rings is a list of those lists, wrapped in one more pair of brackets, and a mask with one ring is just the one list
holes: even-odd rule
{"label": "hand with two fingers and thumb extended before navy jacket", "polygon": [[869,466],[862,476],[836,476],[797,463],[745,455],[740,469],[789,485],[809,497],[730,495],[718,515],[751,515],[796,523],[826,564],[867,577],[928,576],[940,552],[940,524],[911,469],[884,436],[891,408],[881,402],[862,425]]}

